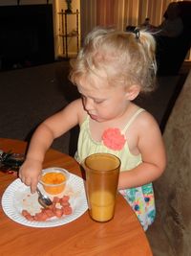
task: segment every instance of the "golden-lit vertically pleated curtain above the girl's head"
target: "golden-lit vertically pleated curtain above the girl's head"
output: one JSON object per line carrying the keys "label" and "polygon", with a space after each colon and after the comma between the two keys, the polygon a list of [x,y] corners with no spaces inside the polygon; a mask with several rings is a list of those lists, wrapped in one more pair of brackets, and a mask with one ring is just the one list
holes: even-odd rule
{"label": "golden-lit vertically pleated curtain above the girl's head", "polygon": [[158,26],[163,13],[173,0],[81,0],[82,37],[97,25],[115,26],[124,30],[127,25],[137,26],[146,17]]}

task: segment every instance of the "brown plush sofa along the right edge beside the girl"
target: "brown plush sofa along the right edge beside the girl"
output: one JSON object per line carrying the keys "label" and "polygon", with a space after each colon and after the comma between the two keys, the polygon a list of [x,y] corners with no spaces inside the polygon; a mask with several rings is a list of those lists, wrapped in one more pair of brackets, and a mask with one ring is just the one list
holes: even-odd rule
{"label": "brown plush sofa along the right edge beside the girl", "polygon": [[146,235],[154,256],[191,255],[191,71],[166,124],[167,167],[154,182],[157,219]]}

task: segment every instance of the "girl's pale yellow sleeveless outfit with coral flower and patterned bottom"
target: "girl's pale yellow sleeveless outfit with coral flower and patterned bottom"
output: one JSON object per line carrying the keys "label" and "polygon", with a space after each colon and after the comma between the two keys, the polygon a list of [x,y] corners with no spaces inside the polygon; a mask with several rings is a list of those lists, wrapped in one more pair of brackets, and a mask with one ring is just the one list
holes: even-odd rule
{"label": "girl's pale yellow sleeveless outfit with coral flower and patterned bottom", "polygon": [[[96,152],[108,152],[115,154],[121,161],[120,172],[131,170],[138,166],[142,160],[141,155],[134,155],[129,151],[125,134],[140,112],[138,111],[131,117],[125,128],[108,128],[103,132],[102,141],[96,142],[90,133],[89,120],[87,116],[80,126],[77,152],[75,159],[81,163],[88,155]],[[119,193],[129,202],[138,216],[144,230],[155,220],[156,207],[152,183],[131,189],[119,190]]]}

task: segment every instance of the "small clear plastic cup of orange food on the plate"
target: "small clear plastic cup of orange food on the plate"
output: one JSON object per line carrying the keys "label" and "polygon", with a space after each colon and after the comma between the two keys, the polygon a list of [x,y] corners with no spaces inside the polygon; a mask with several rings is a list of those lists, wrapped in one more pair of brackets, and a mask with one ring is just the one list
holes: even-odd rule
{"label": "small clear plastic cup of orange food on the plate", "polygon": [[40,183],[47,193],[56,195],[63,192],[68,178],[69,173],[66,170],[61,168],[50,168],[43,170]]}

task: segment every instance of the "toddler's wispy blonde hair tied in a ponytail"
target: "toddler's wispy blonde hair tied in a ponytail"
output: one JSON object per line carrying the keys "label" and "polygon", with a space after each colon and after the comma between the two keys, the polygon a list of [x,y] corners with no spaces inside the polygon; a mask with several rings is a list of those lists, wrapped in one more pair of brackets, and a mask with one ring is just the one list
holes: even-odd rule
{"label": "toddler's wispy blonde hair tied in a ponytail", "polygon": [[71,60],[70,80],[77,84],[92,74],[104,73],[110,85],[138,84],[140,91],[153,90],[157,71],[156,42],[148,32],[120,32],[96,28],[86,36],[77,58]]}

